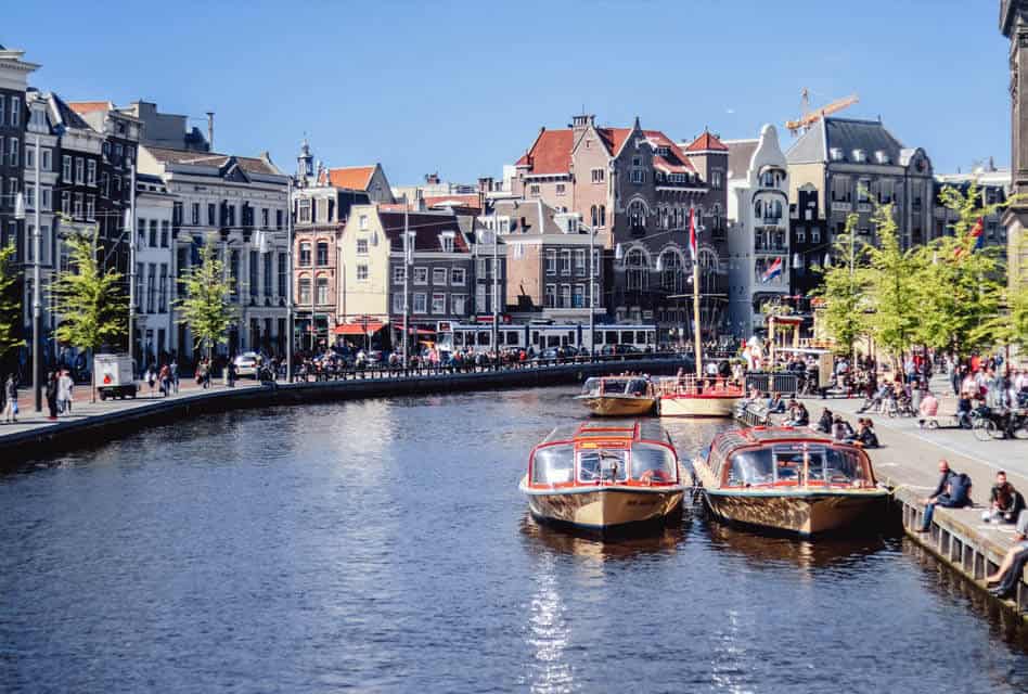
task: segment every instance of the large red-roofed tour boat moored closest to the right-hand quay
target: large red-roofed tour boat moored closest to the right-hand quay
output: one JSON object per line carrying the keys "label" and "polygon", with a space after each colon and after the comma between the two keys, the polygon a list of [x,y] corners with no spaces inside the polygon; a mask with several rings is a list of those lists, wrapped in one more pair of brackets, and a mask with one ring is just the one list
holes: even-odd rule
{"label": "large red-roofed tour boat moored closest to the right-hand quay", "polygon": [[859,529],[888,497],[862,449],[784,426],[724,432],[693,472],[718,518],[801,536]]}

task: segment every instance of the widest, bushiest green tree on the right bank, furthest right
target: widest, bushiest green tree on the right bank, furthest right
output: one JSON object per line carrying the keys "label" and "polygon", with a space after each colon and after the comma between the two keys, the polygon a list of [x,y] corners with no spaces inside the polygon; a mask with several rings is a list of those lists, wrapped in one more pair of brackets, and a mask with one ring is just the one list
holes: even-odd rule
{"label": "widest, bushiest green tree on the right bank, furthest right", "polygon": [[1000,249],[976,248],[976,242],[984,233],[981,219],[1012,201],[982,205],[974,183],[966,193],[947,185],[939,196],[958,219],[953,235],[936,239],[922,249],[926,272],[917,286],[917,301],[923,307],[918,339],[962,357],[999,343],[1008,344],[1015,331],[1011,316],[1000,310],[1005,288]]}

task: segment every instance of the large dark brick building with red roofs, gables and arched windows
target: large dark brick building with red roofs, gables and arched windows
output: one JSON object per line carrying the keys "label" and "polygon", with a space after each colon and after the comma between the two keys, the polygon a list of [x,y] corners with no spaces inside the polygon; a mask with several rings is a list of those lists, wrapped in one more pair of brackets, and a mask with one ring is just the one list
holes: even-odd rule
{"label": "large dark brick building with red roofs, gables and arched windows", "polygon": [[659,130],[644,130],[638,118],[631,128],[606,128],[580,115],[570,128],[541,129],[515,166],[515,197],[577,213],[604,234],[603,306],[611,317],[656,322],[663,339],[691,332],[692,213],[703,247],[701,322],[717,332],[724,305],[718,290],[724,285],[728,166],[728,149],[717,137],[705,132],[683,146]]}

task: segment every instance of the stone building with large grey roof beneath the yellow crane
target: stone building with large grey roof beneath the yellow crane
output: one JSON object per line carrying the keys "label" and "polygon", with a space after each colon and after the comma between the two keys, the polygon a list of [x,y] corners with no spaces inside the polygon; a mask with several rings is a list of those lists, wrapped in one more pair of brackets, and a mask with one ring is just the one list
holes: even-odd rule
{"label": "stone building with large grey roof beneath the yellow crane", "polygon": [[877,243],[874,203],[894,205],[903,247],[933,239],[931,160],[921,147],[904,146],[882,121],[822,118],[796,141],[786,158],[789,203],[798,204],[800,188],[818,191],[817,206],[833,239],[845,230],[847,216],[857,213],[857,237]]}

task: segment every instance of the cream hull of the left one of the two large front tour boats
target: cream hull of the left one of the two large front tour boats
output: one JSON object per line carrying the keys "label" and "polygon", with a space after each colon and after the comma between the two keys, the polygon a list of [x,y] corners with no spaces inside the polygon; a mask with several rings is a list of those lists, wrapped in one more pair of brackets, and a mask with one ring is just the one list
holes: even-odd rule
{"label": "cream hull of the left one of the two large front tour boats", "polygon": [[[524,485],[522,488],[525,489]],[[664,519],[681,507],[685,491],[681,486],[654,489],[611,486],[584,491],[527,493],[528,507],[540,520],[609,530]]]}

